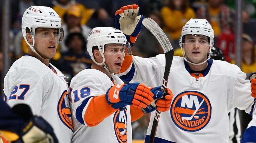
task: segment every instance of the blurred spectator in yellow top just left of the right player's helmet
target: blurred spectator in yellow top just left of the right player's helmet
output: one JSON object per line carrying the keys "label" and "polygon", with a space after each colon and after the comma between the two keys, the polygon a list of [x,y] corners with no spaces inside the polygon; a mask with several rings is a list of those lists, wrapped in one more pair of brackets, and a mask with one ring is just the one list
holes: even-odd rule
{"label": "blurred spectator in yellow top just left of the right player's helmet", "polygon": [[179,38],[182,27],[191,18],[195,18],[195,12],[189,5],[189,0],[169,0],[169,4],[161,9],[164,22],[163,30],[171,35],[174,40],[173,47],[179,47]]}

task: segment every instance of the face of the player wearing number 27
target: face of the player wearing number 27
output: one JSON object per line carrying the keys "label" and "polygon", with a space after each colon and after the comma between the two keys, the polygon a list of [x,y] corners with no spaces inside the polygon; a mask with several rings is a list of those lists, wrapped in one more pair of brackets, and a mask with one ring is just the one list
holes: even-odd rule
{"label": "face of the player wearing number 27", "polygon": [[54,28],[37,28],[35,32],[35,49],[43,58],[52,58],[59,43],[59,31]]}

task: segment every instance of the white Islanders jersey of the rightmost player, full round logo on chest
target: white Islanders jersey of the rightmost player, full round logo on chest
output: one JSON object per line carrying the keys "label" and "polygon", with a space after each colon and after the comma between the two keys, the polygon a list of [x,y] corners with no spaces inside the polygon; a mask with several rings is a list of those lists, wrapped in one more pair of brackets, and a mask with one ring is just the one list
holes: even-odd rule
{"label": "white Islanders jersey of the rightmost player, full round logo on chest", "polygon": [[[207,62],[203,77],[196,79],[183,57],[173,58],[167,88],[174,98],[170,111],[161,113],[156,143],[228,143],[228,112],[234,107],[248,113],[252,110],[254,100],[246,74],[224,61]],[[155,87],[162,84],[164,69],[164,54],[152,58],[133,56],[132,65],[118,76]],[[152,112],[146,143],[154,115]]]}

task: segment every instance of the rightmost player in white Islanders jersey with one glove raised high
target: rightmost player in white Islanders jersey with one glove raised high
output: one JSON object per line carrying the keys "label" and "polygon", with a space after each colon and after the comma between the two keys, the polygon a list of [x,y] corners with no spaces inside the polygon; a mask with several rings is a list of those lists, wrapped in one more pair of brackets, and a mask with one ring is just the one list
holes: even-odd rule
{"label": "rightmost player in white Islanders jersey with one glove raised high", "polygon": [[[116,12],[116,27],[126,35],[141,24],[133,17],[133,9],[127,6]],[[230,110],[237,107],[252,113],[254,100],[246,74],[236,65],[210,59],[213,38],[214,32],[205,19],[190,19],[183,27],[179,42],[184,57],[175,56],[172,61],[167,87],[172,89],[174,99],[170,110],[161,113],[156,143],[228,143]],[[164,54],[152,58],[127,56],[125,62],[130,66],[123,67],[121,75],[129,77],[127,82],[161,85]],[[154,114],[151,113],[146,143]]]}

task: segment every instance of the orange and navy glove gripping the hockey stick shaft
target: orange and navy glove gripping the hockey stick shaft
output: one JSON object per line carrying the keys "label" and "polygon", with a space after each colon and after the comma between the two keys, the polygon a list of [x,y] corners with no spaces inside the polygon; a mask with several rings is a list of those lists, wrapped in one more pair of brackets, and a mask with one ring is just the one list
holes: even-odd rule
{"label": "orange and navy glove gripping the hockey stick shaft", "polygon": [[171,102],[173,99],[173,93],[170,89],[167,89],[167,93],[164,94],[163,97],[163,92],[161,91],[161,86],[151,88],[150,90],[154,96],[154,101],[151,103],[151,105],[148,105],[146,108],[143,108],[142,110],[149,113],[154,110],[159,110],[161,112],[168,111],[171,107]]}

